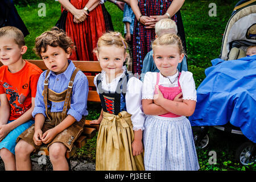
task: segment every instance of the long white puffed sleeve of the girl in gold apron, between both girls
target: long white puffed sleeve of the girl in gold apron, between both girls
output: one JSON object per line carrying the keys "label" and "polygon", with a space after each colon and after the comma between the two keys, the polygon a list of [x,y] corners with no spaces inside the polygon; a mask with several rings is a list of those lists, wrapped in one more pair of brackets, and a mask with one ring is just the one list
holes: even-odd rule
{"label": "long white puffed sleeve of the girl in gold apron, between both girls", "polygon": [[127,83],[127,92],[125,95],[126,109],[131,114],[133,130],[144,130],[144,113],[141,104],[142,81],[131,77]]}

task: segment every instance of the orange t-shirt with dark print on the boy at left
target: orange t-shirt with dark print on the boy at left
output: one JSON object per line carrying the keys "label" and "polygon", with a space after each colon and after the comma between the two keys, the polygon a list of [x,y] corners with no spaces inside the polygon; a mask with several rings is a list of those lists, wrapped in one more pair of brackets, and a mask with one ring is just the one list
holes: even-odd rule
{"label": "orange t-shirt with dark print on the boy at left", "polygon": [[40,68],[28,61],[16,73],[11,73],[5,65],[0,67],[0,94],[5,93],[9,100],[11,106],[9,120],[19,118],[30,109],[31,97],[36,96],[36,86],[42,72]]}

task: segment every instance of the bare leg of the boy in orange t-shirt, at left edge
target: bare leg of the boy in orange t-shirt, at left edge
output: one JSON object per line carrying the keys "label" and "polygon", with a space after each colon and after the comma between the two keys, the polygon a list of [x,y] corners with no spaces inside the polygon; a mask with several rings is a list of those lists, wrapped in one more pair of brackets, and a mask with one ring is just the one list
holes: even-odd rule
{"label": "bare leg of the boy in orange t-shirt, at left edge", "polygon": [[5,163],[5,171],[15,171],[15,156],[7,148],[0,149],[0,156]]}

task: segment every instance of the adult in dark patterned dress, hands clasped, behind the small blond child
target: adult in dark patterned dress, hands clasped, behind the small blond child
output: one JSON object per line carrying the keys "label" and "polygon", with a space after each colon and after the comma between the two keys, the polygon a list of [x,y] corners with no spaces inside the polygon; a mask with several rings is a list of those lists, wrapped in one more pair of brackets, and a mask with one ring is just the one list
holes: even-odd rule
{"label": "adult in dark patterned dress, hands clasped, behind the small blond child", "polygon": [[185,43],[184,28],[179,12],[183,3],[184,0],[140,0],[139,2],[138,0],[130,0],[131,9],[135,14],[133,73],[141,74],[143,59],[151,51],[151,42],[155,39],[155,23],[160,19],[171,18],[174,20],[177,24],[177,34]]}

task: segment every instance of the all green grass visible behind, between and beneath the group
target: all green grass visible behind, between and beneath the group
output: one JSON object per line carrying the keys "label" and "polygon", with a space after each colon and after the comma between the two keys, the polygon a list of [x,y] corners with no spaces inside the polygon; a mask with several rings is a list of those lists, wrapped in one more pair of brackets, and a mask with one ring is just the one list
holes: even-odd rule
{"label": "all green grass visible behind, between and beneath the group", "polygon": [[[19,15],[26,24],[30,35],[25,40],[28,51],[24,55],[25,59],[39,59],[32,51],[36,36],[42,32],[49,30],[55,25],[60,17],[60,4],[56,1],[44,1],[46,4],[46,16],[38,16],[38,3],[32,3],[27,6],[17,6]],[[209,3],[217,5],[217,16],[209,16]],[[236,1],[213,0],[213,1],[193,1],[186,0],[181,8],[181,15],[185,28],[188,68],[193,73],[196,88],[205,78],[205,68],[212,64],[210,60],[220,55],[222,35],[224,34],[226,23],[233,11]],[[122,11],[113,3],[106,2],[106,9],[112,15],[114,30],[123,34]],[[100,104],[88,103],[89,115],[88,119],[96,119],[100,115]],[[210,142],[207,147],[197,149],[200,170],[202,171],[243,171],[255,170],[256,164],[251,166],[242,166],[234,160],[234,152],[245,138],[228,135],[224,132],[210,129]],[[95,162],[96,157],[96,137],[88,140],[83,148],[77,151],[76,158],[86,159]],[[217,164],[210,165],[209,152],[216,151]]]}

